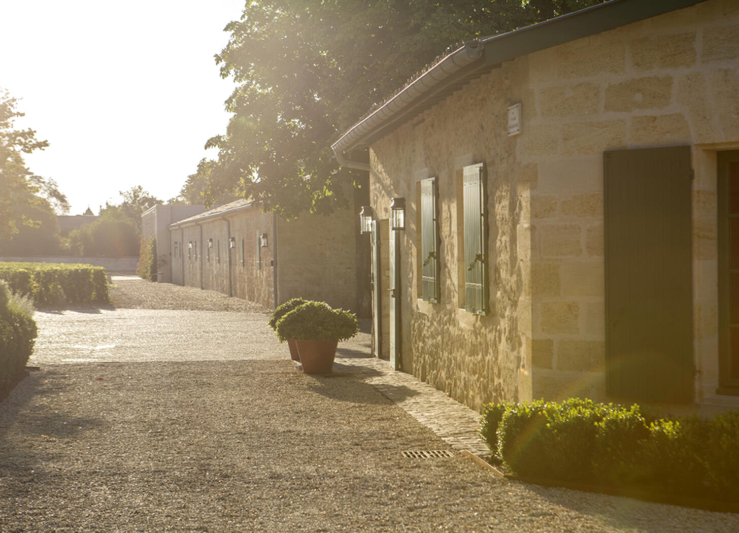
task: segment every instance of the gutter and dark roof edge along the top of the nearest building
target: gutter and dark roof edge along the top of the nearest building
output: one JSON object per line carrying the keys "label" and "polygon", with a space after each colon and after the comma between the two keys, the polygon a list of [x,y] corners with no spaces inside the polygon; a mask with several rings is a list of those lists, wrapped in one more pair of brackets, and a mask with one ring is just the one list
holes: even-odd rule
{"label": "gutter and dark roof edge along the top of the nearest building", "polygon": [[368,170],[367,162],[351,160],[353,151],[367,149],[369,144],[442,101],[469,81],[500,67],[503,61],[702,1],[706,0],[610,0],[519,30],[469,41],[437,61],[344,132],[331,148],[342,165]]}

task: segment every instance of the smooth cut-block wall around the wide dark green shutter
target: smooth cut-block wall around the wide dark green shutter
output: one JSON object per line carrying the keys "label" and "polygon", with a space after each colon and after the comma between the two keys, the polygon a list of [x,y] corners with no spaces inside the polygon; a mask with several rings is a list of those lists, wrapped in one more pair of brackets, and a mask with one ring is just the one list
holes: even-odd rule
{"label": "smooth cut-block wall around the wide dark green shutter", "polygon": [[[717,378],[716,172],[739,142],[739,5],[712,0],[528,57],[534,397],[605,398],[603,160],[692,145],[696,400]],[[526,104],[524,103],[524,106]]]}

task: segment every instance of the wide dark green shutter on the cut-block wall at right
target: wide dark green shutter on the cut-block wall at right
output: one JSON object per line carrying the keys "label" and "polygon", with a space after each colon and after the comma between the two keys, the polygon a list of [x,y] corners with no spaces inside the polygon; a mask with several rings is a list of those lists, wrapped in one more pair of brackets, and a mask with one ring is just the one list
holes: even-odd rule
{"label": "wide dark green shutter on the cut-block wall at right", "polygon": [[692,401],[689,146],[605,152],[607,393]]}

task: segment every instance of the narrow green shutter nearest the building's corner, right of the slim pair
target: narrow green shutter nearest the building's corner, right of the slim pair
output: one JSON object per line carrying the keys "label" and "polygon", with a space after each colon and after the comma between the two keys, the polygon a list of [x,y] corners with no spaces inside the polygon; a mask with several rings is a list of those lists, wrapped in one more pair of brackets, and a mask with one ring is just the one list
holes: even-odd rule
{"label": "narrow green shutter nearest the building's corner, right of the slim pair", "polygon": [[465,309],[488,312],[487,224],[483,163],[463,169]]}

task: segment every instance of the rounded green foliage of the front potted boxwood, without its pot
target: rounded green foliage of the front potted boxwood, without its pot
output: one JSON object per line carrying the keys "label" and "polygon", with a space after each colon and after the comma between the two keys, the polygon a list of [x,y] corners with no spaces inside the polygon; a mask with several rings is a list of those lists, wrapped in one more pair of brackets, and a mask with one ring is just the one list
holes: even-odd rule
{"label": "rounded green foliage of the front potted boxwood, without its pot", "polygon": [[287,339],[344,341],[359,330],[354,313],[334,309],[326,302],[305,302],[277,321],[280,342]]}

